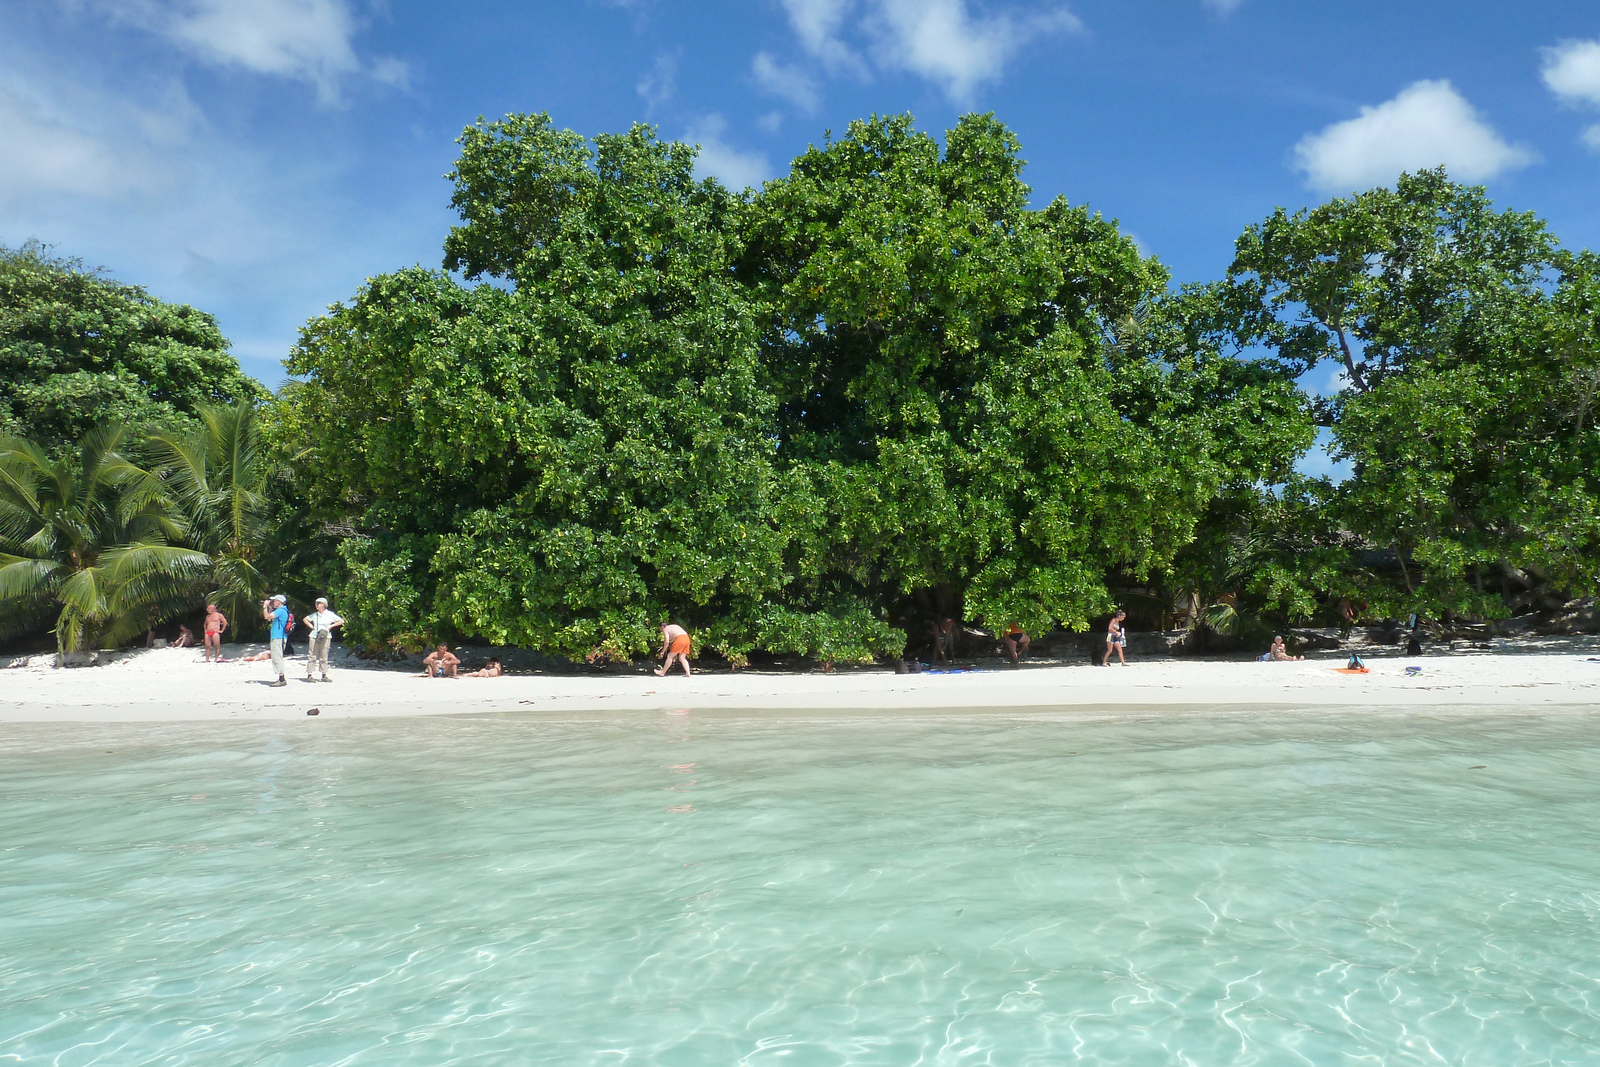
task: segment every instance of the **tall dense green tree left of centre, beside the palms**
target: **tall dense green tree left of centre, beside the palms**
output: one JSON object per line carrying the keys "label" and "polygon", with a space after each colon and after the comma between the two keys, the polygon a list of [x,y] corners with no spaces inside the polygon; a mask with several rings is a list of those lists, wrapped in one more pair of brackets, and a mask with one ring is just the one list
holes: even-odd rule
{"label": "tall dense green tree left of centre, beside the palms", "polygon": [[314,514],[357,533],[355,633],[624,656],[669,614],[730,651],[771,630],[787,534],[741,200],[648,128],[544,115],[467,130],[453,178],[446,262],[502,283],[376,278],[291,360],[282,434]]}

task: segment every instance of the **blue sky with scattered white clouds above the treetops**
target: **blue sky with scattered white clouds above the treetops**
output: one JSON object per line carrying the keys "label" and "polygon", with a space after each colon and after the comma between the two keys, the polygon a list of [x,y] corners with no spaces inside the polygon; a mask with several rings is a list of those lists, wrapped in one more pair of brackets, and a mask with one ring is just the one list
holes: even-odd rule
{"label": "blue sky with scattered white clouds above the treetops", "polygon": [[994,110],[1037,203],[1178,282],[1434,163],[1600,246],[1594,0],[0,0],[0,242],[216,314],[277,384],[309,317],[438,266],[454,138],[510,110],[651,122],[741,186],[872,112]]}

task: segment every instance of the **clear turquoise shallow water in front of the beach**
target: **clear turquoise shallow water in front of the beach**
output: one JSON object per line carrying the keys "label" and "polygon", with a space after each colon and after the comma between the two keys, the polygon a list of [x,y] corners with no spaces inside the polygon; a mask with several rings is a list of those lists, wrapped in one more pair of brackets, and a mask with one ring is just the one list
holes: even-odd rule
{"label": "clear turquoise shallow water in front of the beach", "polygon": [[0,1062],[1592,1064],[1597,771],[1582,713],[6,726]]}

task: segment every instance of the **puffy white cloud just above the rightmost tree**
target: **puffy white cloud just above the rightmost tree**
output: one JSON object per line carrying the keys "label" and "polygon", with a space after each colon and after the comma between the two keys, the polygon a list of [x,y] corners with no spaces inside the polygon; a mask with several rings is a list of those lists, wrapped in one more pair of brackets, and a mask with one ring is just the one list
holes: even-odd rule
{"label": "puffy white cloud just above the rightmost tree", "polygon": [[1402,171],[1446,166],[1454,178],[1483,181],[1534,162],[1507,144],[1450,82],[1418,82],[1392,101],[1306,134],[1294,146],[1296,170],[1323,192],[1390,182]]}

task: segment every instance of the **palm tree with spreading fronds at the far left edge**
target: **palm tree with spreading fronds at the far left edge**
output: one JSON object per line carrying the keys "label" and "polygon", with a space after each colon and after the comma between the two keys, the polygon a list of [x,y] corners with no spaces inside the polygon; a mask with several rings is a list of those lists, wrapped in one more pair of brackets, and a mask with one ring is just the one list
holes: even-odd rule
{"label": "palm tree with spreading fronds at the far left edge", "polygon": [[171,544],[182,528],[158,480],[122,454],[126,438],[123,426],[96,427],[74,462],[0,438],[0,637],[54,614],[56,665],[186,606],[208,565]]}

